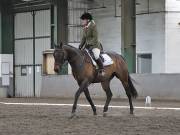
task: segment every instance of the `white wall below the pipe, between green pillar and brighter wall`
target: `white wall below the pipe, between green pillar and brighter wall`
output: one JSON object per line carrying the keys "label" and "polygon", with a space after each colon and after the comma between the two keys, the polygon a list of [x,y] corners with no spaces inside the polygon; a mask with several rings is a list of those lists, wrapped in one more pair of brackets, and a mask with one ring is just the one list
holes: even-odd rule
{"label": "white wall below the pipe, between green pillar and brighter wall", "polygon": [[152,73],[165,72],[164,13],[137,16],[136,53],[152,54]]}

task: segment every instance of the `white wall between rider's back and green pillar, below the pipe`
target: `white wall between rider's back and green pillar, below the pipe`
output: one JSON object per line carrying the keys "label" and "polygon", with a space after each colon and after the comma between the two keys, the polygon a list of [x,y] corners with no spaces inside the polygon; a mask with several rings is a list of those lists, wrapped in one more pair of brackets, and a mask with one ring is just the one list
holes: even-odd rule
{"label": "white wall between rider's back and green pillar, below the pipe", "polygon": [[109,16],[95,20],[104,50],[121,54],[121,19]]}

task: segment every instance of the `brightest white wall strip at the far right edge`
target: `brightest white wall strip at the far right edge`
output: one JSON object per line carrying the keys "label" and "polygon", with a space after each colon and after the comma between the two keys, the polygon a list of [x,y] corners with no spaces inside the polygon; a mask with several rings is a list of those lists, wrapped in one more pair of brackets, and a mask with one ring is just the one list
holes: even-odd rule
{"label": "brightest white wall strip at the far right edge", "polygon": [[[166,1],[166,73],[180,73],[180,1]],[[171,12],[173,11],[173,12]]]}

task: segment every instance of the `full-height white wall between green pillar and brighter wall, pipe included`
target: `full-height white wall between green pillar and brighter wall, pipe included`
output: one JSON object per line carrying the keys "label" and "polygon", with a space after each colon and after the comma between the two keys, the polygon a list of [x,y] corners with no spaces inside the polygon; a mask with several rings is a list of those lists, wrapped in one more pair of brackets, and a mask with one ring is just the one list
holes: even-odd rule
{"label": "full-height white wall between green pillar and brighter wall, pipe included", "polygon": [[152,54],[152,73],[164,73],[165,13],[161,11],[165,10],[165,2],[149,0],[148,4],[148,0],[137,0],[136,3],[136,53]]}

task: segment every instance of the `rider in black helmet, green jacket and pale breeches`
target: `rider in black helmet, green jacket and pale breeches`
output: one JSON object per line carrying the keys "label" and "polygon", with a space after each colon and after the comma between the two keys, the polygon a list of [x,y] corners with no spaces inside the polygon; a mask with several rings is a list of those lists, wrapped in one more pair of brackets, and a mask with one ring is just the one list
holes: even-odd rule
{"label": "rider in black helmet, green jacket and pale breeches", "polygon": [[93,17],[90,13],[84,13],[80,17],[83,25],[83,37],[79,45],[79,49],[82,50],[86,48],[91,51],[94,55],[95,61],[99,66],[99,73],[104,75],[103,62],[100,57],[101,45],[98,41],[98,32],[96,24],[93,20]]}

